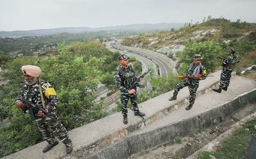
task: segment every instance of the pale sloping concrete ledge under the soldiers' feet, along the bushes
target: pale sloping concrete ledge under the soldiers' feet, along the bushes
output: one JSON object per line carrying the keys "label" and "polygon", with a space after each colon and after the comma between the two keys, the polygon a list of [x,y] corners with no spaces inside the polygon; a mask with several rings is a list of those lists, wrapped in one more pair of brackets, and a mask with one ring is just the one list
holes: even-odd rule
{"label": "pale sloping concrete ledge under the soldiers' feet, along the bushes", "polygon": [[[200,81],[200,87],[197,91],[197,96],[204,95],[212,90],[212,88],[218,86],[220,80],[220,71],[212,73],[214,77],[209,77],[206,80]],[[232,83],[232,82],[231,82]],[[254,86],[253,86],[254,87]],[[170,114],[173,110],[177,110],[182,105],[188,104],[189,91],[188,88],[180,90],[178,100],[168,101],[168,98],[172,96],[173,91],[157,96],[147,102],[143,102],[139,105],[140,110],[146,113],[146,125],[154,123],[164,116]],[[131,110],[128,114],[129,124],[124,125],[122,123],[122,114],[115,113],[110,116],[104,117],[88,125],[81,126],[70,131],[70,137],[74,145],[73,154],[83,153],[92,154],[99,149],[106,148],[110,144],[123,139],[129,133],[136,130],[140,130],[144,127],[144,123],[141,117],[134,116]],[[46,142],[41,142],[35,146],[23,149],[17,153],[6,156],[4,158],[63,158],[70,157],[65,155],[65,146],[58,144],[51,151],[42,153],[42,149],[46,145]]]}

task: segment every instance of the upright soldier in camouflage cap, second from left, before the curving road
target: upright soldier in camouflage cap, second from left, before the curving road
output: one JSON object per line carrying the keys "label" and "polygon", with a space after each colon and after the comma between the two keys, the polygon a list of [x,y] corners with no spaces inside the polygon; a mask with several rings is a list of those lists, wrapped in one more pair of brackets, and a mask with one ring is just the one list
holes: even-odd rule
{"label": "upright soldier in camouflage cap, second from left, before the curving road", "polygon": [[[120,67],[115,71],[116,86],[120,89],[120,100],[122,104],[122,114],[124,117],[124,124],[128,124],[127,120],[127,103],[131,98],[134,116],[145,116],[145,113],[140,112],[137,103],[136,88],[129,90],[129,87],[136,81],[137,76],[131,66],[129,66],[129,57],[124,54],[118,57],[120,61]],[[140,79],[142,80],[142,78]]]}

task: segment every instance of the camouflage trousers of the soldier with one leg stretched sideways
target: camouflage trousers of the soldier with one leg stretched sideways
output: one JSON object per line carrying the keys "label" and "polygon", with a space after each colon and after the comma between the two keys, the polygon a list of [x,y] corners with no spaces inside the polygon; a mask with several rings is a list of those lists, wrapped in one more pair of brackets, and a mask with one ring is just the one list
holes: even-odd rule
{"label": "camouflage trousers of the soldier with one leg stretched sideways", "polygon": [[195,98],[196,98],[196,90],[199,86],[199,81],[198,80],[189,80],[189,81],[182,81],[177,86],[175,86],[173,96],[177,96],[180,89],[188,86],[189,89],[189,104],[193,105],[195,103]]}

